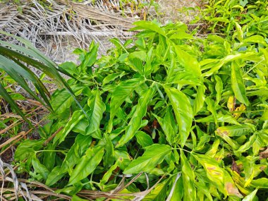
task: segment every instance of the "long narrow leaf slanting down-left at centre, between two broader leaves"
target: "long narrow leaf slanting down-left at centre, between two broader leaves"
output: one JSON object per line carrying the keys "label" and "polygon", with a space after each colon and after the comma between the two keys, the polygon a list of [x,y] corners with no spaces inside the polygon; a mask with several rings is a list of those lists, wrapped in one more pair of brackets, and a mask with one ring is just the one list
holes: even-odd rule
{"label": "long narrow leaf slanting down-left at centre, between two broader leaves", "polygon": [[126,128],[126,134],[121,137],[116,147],[125,145],[126,142],[134,137],[135,132],[140,128],[142,124],[142,118],[147,112],[147,105],[149,104],[152,97],[154,97],[154,90],[152,87],[142,92],[135,113],[133,114],[130,122],[128,123],[128,127]]}

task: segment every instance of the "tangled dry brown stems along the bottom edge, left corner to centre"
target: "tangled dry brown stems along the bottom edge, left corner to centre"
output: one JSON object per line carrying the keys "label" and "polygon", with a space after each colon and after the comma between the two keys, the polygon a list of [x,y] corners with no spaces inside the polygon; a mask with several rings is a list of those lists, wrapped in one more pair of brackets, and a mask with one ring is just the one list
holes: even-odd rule
{"label": "tangled dry brown stems along the bottom edge, left corner to centre", "polygon": [[[37,181],[29,181],[27,179],[18,178],[15,169],[18,166],[11,166],[10,164],[6,164],[1,160],[0,157],[0,180],[1,180],[1,200],[18,200],[19,197],[23,197],[24,200],[36,200],[40,201],[47,198],[53,198],[57,200],[59,198],[65,200],[71,200],[72,197],[69,195],[64,195],[61,193],[55,193],[57,189],[49,188],[47,185],[43,183],[39,183]],[[11,176],[10,176],[11,175]],[[77,195],[79,197],[83,197],[87,200],[95,200],[99,197],[105,197],[106,201],[110,199],[118,199],[118,200],[126,200],[124,196],[133,196],[133,200],[140,201],[145,195],[150,193],[152,189],[162,180],[162,178],[157,181],[151,188],[149,187],[149,178],[145,173],[147,178],[147,189],[138,193],[120,193],[123,189],[127,188],[128,185],[133,183],[142,175],[142,172],[135,176],[130,182],[125,184],[126,176],[122,176],[121,182],[118,184],[117,188],[111,190],[109,192],[101,192],[96,190],[81,190]],[[42,199],[41,199],[42,197]]]}

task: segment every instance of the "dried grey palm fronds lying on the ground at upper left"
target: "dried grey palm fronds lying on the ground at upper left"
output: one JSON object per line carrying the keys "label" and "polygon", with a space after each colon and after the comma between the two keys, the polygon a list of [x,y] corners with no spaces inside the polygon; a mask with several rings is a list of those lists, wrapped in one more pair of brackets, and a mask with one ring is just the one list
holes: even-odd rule
{"label": "dried grey palm fronds lying on the ground at upper left", "polygon": [[[66,61],[66,47],[87,48],[92,40],[107,50],[111,37],[127,39],[128,30],[142,17],[131,6],[119,8],[119,1],[98,0],[75,3],[65,0],[21,1],[21,4],[0,3],[0,29],[29,39],[54,61]],[[140,15],[140,16],[138,16]],[[3,39],[3,38],[2,38]],[[4,38],[11,40],[10,38]]]}

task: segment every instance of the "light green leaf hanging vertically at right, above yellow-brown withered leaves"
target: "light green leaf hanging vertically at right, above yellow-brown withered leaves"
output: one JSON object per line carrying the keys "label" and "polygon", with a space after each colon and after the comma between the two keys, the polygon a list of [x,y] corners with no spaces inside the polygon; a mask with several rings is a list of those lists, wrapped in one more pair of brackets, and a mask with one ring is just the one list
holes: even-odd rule
{"label": "light green leaf hanging vertically at right, above yellow-brown withered leaves", "polygon": [[245,85],[243,83],[240,67],[234,61],[231,65],[231,86],[236,99],[248,106],[250,103],[248,102],[248,98],[245,95]]}

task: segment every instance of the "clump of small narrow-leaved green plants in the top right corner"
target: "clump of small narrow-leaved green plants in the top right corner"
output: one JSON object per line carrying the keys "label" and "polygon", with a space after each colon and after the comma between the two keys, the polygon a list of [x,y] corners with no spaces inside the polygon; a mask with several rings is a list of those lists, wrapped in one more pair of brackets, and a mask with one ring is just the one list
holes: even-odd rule
{"label": "clump of small narrow-leaved green plants in the top right corner", "polygon": [[201,11],[208,30],[223,33],[227,37],[241,35],[268,35],[268,2],[265,0],[210,0]]}

